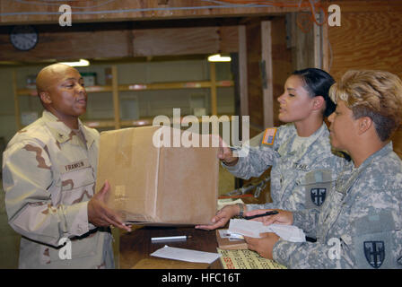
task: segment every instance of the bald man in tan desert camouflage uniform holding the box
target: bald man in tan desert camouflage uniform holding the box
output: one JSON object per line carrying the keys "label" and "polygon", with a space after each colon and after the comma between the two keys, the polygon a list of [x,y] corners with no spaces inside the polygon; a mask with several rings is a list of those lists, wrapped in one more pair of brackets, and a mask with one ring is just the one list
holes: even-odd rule
{"label": "bald man in tan desert camouflage uniform holding the box", "polygon": [[94,196],[99,133],[78,119],[86,110],[83,78],[68,65],[49,65],[37,88],[42,117],[4,152],[5,207],[22,234],[19,266],[112,268],[109,225],[128,228],[103,204],[108,183]]}

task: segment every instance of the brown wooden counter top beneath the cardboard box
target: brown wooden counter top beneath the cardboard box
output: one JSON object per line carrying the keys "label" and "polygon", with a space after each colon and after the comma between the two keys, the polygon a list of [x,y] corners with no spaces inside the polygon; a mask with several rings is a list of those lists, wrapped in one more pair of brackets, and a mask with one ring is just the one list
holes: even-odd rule
{"label": "brown wooden counter top beneath the cardboard box", "polygon": [[[134,230],[135,229],[135,230]],[[191,235],[191,239],[153,243],[153,237]],[[222,269],[219,259],[211,265],[151,257],[155,250],[169,245],[172,248],[187,248],[214,252],[218,244],[215,230],[196,230],[194,227],[142,227],[133,226],[133,231],[120,235],[119,265],[122,269]]]}

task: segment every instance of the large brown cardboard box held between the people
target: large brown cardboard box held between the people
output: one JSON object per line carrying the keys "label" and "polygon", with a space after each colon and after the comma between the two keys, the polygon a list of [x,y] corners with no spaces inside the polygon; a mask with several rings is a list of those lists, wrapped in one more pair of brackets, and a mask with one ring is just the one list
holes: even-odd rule
{"label": "large brown cardboard box held between the people", "polygon": [[161,128],[173,135],[166,126],[102,132],[96,191],[109,180],[107,205],[126,222],[209,223],[216,213],[218,148],[156,147],[153,136]]}

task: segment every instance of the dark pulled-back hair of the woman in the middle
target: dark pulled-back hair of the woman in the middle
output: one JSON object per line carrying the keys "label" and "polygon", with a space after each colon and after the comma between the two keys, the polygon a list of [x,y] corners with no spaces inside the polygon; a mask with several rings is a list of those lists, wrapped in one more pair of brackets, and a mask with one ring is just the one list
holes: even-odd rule
{"label": "dark pulled-back hair of the woman in the middle", "polygon": [[310,97],[321,96],[325,100],[324,117],[329,117],[336,109],[336,104],[329,98],[329,88],[335,83],[334,78],[327,72],[317,68],[296,70],[292,74],[301,77],[305,88],[309,91]]}

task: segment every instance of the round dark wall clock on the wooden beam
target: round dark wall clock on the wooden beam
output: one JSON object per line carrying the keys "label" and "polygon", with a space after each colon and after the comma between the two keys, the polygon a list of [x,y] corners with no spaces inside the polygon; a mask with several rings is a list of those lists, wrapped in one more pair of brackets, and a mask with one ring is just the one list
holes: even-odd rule
{"label": "round dark wall clock on the wooden beam", "polygon": [[31,25],[14,26],[10,32],[10,41],[13,47],[21,51],[34,48],[39,40],[38,31]]}

